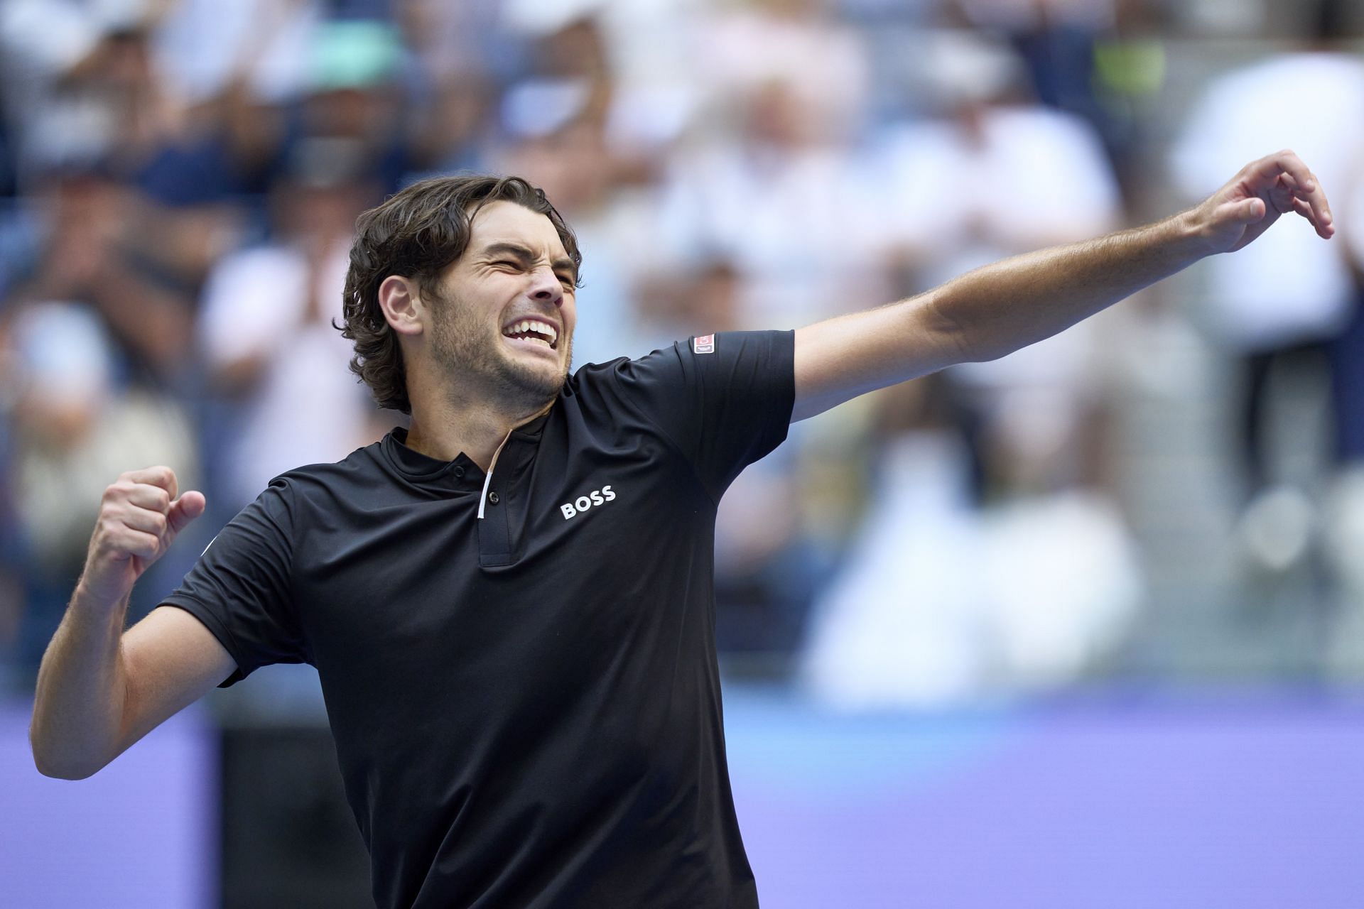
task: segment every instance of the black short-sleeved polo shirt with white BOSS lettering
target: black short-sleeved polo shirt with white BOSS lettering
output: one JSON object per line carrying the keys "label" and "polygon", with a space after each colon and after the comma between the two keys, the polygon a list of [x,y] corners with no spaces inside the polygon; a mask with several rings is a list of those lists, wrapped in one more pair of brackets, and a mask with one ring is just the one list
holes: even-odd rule
{"label": "black short-sleeved polo shirt with white BOSS lettering", "polygon": [[730,333],[584,367],[486,496],[469,458],[394,429],[277,477],[165,600],[236,660],[224,685],[316,666],[379,906],[757,906],[713,530],[786,437],[792,346]]}

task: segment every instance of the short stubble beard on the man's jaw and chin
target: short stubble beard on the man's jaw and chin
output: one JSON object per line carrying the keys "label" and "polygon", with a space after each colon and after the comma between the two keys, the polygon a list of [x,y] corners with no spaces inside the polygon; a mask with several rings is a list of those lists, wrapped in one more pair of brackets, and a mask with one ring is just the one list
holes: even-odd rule
{"label": "short stubble beard on the man's jaw and chin", "polygon": [[[442,373],[454,378],[453,391],[461,398],[472,392],[509,409],[537,410],[558,397],[567,367],[551,369],[548,364],[536,367],[513,357],[502,333],[453,296],[436,307],[431,353]],[[573,339],[561,335],[559,343],[567,349],[555,353],[566,353],[566,363],[572,363]]]}

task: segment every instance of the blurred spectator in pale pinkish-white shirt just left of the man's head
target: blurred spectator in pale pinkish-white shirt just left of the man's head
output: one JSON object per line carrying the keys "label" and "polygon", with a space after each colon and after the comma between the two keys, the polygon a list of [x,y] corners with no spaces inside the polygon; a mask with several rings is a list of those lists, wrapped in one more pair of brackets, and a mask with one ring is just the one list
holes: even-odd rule
{"label": "blurred spectator in pale pinkish-white shirt just left of the man's head", "polygon": [[331,326],[355,218],[378,195],[363,157],[346,151],[333,140],[299,144],[271,194],[274,238],[224,258],[205,288],[199,349],[235,414],[210,447],[224,455],[214,467],[229,514],[276,474],[382,435],[348,369],[351,342]]}

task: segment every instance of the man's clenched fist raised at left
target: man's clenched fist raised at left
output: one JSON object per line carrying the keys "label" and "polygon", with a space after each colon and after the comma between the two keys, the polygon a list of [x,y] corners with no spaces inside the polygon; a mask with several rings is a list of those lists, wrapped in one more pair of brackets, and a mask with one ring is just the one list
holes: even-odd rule
{"label": "man's clenched fist raised at left", "polygon": [[78,590],[113,606],[132,590],[187,523],[203,514],[202,492],[179,499],[170,467],[131,470],[119,477],[100,503]]}

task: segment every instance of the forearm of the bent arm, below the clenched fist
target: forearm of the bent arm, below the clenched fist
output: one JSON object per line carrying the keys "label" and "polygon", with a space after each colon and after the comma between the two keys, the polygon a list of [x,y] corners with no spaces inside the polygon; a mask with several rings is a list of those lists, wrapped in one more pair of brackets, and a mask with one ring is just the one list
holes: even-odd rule
{"label": "forearm of the bent arm, below the clenched fist", "polygon": [[124,597],[91,602],[78,586],[38,669],[29,741],[38,770],[82,780],[117,752],[127,683],[123,666]]}

